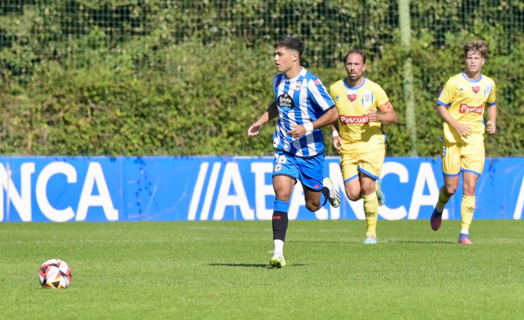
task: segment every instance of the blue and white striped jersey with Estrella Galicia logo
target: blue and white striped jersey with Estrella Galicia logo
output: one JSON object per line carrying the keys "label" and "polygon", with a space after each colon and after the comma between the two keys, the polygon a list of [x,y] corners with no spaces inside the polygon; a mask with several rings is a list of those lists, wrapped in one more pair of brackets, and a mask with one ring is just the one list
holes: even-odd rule
{"label": "blue and white striped jersey with Estrella Galicia logo", "polygon": [[292,79],[286,79],[283,73],[276,75],[273,88],[278,107],[273,147],[298,157],[313,157],[323,153],[324,138],[320,129],[298,139],[286,134],[291,126],[314,122],[334,107],[335,104],[320,79],[302,68],[300,74]]}

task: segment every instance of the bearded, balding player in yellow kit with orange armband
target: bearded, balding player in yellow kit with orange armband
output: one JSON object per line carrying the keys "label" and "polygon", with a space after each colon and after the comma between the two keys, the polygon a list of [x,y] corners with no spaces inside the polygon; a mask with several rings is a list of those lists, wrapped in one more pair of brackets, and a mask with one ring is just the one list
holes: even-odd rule
{"label": "bearded, balding player in yellow kit with orange armband", "polygon": [[329,94],[340,114],[331,128],[333,145],[341,153],[345,194],[352,201],[363,198],[368,227],[364,243],[374,244],[379,205],[385,199],[379,185],[386,156],[386,133],[382,125],[393,124],[398,117],[381,86],[363,76],[365,58],[362,50],[347,53],[344,58],[347,77],[332,84]]}

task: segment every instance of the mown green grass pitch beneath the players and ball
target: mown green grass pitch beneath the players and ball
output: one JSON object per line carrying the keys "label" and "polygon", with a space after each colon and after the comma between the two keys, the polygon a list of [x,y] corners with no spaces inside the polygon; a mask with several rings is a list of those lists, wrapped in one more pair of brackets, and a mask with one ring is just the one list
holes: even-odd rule
{"label": "mown green grass pitch beneath the players and ball", "polygon": [[[0,319],[524,319],[524,220],[0,223]],[[41,263],[73,270],[45,290]]]}

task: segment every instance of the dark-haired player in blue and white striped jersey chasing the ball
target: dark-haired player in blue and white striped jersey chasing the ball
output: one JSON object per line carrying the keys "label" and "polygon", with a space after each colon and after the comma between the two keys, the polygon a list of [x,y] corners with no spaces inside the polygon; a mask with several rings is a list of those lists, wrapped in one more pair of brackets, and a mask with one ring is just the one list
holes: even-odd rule
{"label": "dark-haired player in blue and white striped jersey chasing the ball", "polygon": [[273,147],[273,243],[269,261],[284,267],[284,238],[288,226],[289,198],[297,180],[304,189],[305,205],[317,211],[327,201],[340,205],[340,194],[329,178],[324,178],[324,139],[320,128],[338,120],[338,111],[320,79],[300,66],[302,40],[285,37],[275,42],[275,65],[280,72],[273,79],[275,100],[251,125],[248,135],[258,135],[262,124],[278,117]]}

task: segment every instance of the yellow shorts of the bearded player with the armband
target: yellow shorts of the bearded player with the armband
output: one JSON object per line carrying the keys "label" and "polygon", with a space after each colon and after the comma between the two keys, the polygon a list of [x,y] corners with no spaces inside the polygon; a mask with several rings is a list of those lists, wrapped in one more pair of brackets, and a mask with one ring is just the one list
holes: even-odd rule
{"label": "yellow shorts of the bearded player with the armband", "polygon": [[[361,144],[361,145],[359,145]],[[382,164],[386,157],[384,144],[357,142],[352,151],[341,153],[341,171],[344,182],[359,176],[359,171],[378,179],[382,171]]]}

